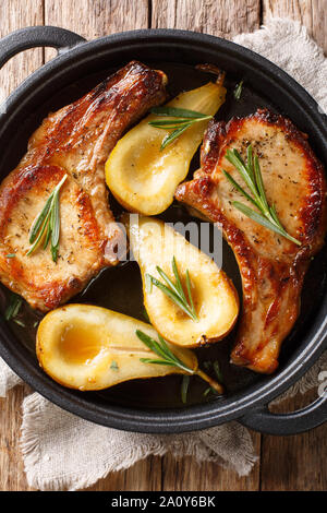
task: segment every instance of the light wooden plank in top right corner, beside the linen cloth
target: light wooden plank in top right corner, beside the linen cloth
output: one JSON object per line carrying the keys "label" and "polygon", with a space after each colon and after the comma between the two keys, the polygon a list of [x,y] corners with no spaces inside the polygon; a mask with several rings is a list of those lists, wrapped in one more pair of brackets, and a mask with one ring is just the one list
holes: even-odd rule
{"label": "light wooden plank in top right corner, beside the linen cloth", "polygon": [[264,23],[271,16],[301,22],[327,53],[326,0],[263,0]]}

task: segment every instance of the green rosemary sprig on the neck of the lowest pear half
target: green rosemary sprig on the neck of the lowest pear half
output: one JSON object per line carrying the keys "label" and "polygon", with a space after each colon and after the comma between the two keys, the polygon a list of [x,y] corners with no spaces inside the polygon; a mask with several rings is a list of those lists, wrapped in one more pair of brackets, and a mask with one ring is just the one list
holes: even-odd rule
{"label": "green rosemary sprig on the neck of the lowest pear half", "polygon": [[171,349],[168,347],[167,342],[162,338],[161,335],[158,334],[158,341],[155,341],[146,333],[142,332],[141,330],[136,330],[136,335],[141,342],[143,342],[153,353],[155,353],[159,359],[155,358],[140,358],[140,361],[143,363],[153,363],[159,366],[171,366],[181,369],[189,375],[196,374],[202,378],[204,381],[207,381],[209,385],[215,389],[216,392],[219,394],[223,393],[223,387],[220,383],[213,380],[209,375],[203,372],[201,369],[191,369],[187,367],[177,355],[174,355]]}

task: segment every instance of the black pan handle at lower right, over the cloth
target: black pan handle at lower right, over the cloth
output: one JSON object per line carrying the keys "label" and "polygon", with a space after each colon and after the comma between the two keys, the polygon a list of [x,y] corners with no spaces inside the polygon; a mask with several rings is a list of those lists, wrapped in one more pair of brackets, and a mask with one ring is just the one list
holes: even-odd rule
{"label": "black pan handle at lower right, over the cloth", "polygon": [[[326,387],[326,386],[325,386]],[[327,390],[305,408],[290,414],[271,414],[267,405],[238,419],[243,426],[267,434],[298,434],[327,421]]]}

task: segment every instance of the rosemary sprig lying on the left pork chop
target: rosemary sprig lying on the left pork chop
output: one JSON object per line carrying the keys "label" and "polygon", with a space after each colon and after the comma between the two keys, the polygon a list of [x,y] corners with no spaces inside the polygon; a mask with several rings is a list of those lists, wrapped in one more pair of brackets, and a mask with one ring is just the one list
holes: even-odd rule
{"label": "rosemary sprig lying on the left pork chop", "polygon": [[51,255],[53,262],[58,259],[59,235],[60,235],[60,215],[59,215],[59,193],[68,175],[60,180],[49,195],[46,204],[39,215],[35,218],[31,231],[27,255],[32,254],[44,241],[44,249],[47,249],[51,239]]}

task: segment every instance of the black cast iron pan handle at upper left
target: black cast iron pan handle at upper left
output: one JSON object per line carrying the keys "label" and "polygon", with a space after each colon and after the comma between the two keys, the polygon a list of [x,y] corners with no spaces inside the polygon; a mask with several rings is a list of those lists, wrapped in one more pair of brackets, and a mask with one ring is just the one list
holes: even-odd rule
{"label": "black cast iron pan handle at upper left", "polygon": [[12,32],[0,39],[0,68],[20,51],[38,46],[50,46],[58,50],[84,43],[74,32],[56,26],[29,26]]}

